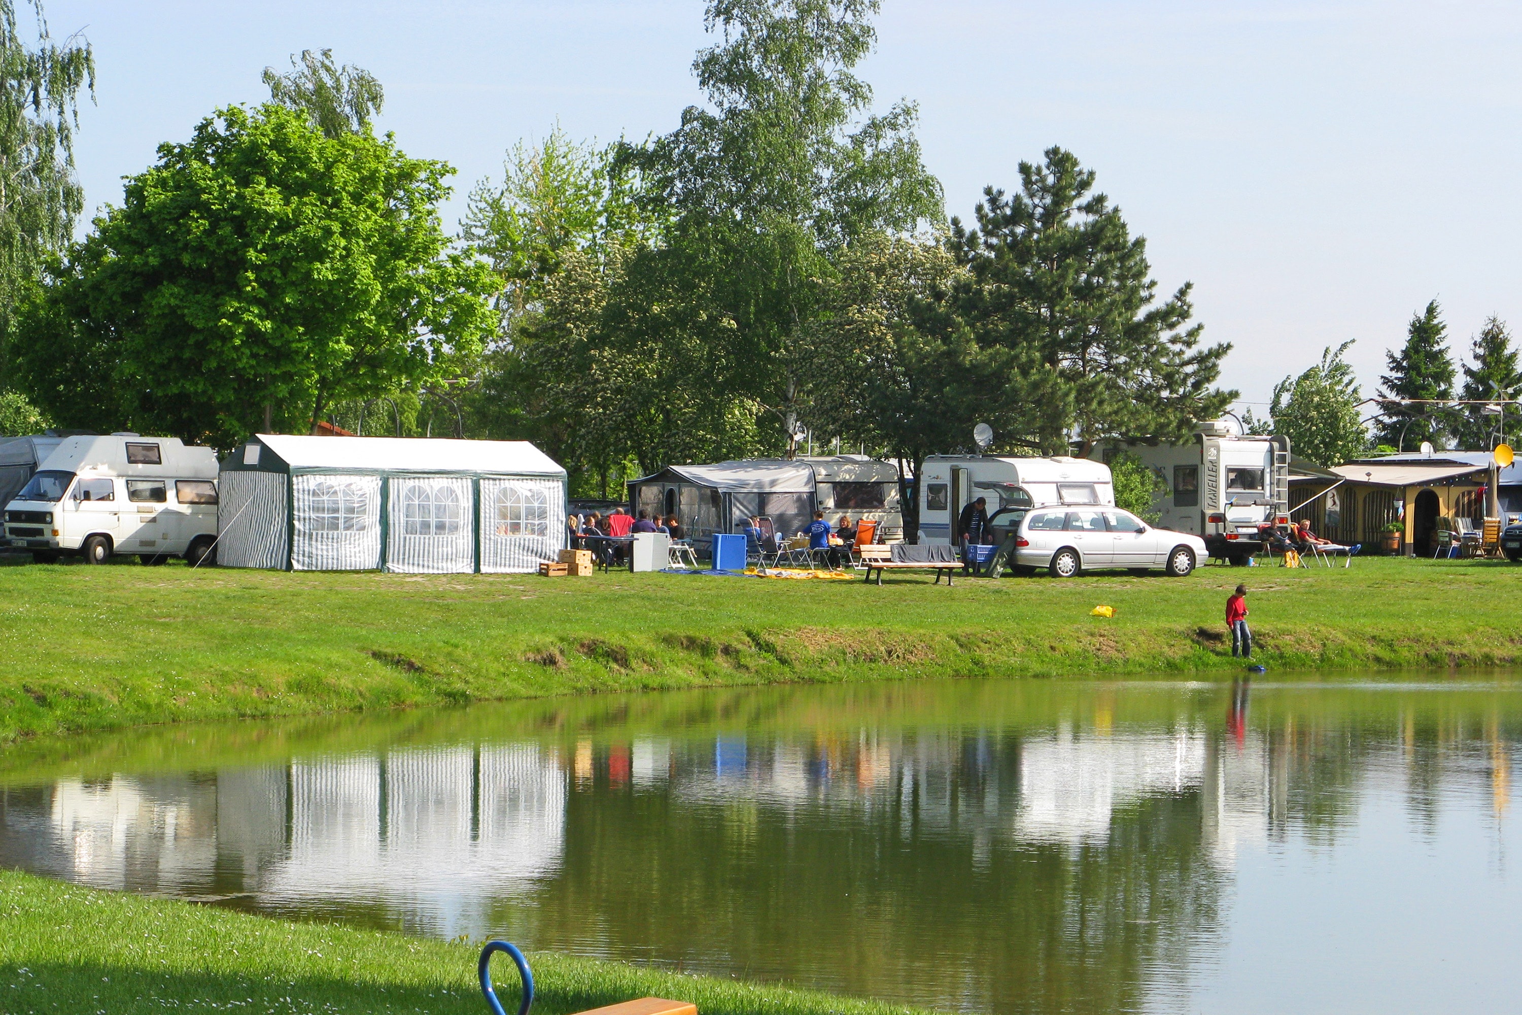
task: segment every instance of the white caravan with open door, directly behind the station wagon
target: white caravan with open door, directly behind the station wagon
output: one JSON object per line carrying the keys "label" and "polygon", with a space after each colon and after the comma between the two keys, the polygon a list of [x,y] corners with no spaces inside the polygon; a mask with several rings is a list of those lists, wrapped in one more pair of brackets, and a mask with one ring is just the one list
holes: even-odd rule
{"label": "white caravan with open door, directly behind the station wagon", "polygon": [[919,542],[954,542],[962,508],[985,498],[988,520],[1000,530],[1020,523],[1033,507],[1053,504],[1114,504],[1110,466],[1087,458],[989,458],[931,455],[916,482]]}

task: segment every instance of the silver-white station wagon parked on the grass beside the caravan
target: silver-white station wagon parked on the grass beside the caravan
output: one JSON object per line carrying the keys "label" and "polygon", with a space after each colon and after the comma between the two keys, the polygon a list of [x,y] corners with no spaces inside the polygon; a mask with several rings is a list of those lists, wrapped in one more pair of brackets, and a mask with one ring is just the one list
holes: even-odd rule
{"label": "silver-white station wagon parked on the grass beside the caravan", "polygon": [[1036,508],[1015,533],[1015,566],[1046,568],[1055,578],[1097,568],[1163,568],[1183,578],[1204,558],[1205,540],[1198,536],[1152,528],[1131,511],[1105,505]]}

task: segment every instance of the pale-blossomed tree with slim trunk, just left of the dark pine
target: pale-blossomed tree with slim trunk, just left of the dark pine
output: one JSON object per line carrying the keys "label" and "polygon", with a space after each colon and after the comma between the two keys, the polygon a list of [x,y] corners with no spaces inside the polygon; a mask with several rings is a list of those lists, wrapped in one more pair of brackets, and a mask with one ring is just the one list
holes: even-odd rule
{"label": "pale-blossomed tree with slim trunk, just left of the dark pine", "polygon": [[[804,420],[881,450],[904,476],[927,455],[968,447],[977,423],[1006,446],[1027,432],[1036,406],[1061,394],[1021,350],[979,345],[948,306],[965,282],[944,243],[869,234],[842,250],[793,353]],[[919,505],[904,493],[913,537]]]}

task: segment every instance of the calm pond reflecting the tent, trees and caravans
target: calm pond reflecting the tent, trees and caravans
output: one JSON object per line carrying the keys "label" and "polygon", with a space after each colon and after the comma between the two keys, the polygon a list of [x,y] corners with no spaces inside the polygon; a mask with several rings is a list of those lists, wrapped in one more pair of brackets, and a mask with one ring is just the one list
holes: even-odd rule
{"label": "calm pond reflecting the tent, trees and caravans", "polygon": [[1502,1010],[1519,691],[906,682],[37,741],[0,753],[0,864],[970,1012]]}

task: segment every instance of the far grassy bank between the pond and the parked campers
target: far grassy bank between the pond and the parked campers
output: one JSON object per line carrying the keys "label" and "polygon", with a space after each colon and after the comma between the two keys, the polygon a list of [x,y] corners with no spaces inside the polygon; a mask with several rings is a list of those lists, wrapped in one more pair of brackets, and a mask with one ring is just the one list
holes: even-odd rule
{"label": "far grassy bank between the pond and the parked campers", "polygon": [[[1522,568],[763,581],[0,568],[0,740],[589,691],[904,676],[1219,673],[1247,581],[1274,668],[1516,665]],[[1090,616],[1114,606],[1114,619]]]}

